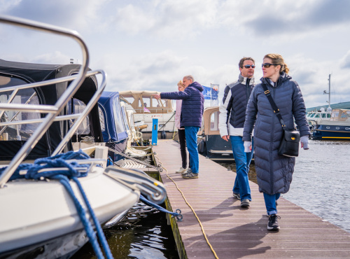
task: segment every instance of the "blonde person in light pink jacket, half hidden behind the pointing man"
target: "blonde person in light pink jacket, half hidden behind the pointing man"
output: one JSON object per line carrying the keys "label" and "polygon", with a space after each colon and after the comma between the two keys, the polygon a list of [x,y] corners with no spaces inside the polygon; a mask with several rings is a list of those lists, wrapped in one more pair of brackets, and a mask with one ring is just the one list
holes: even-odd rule
{"label": "blonde person in light pink jacket, half hidden behind the pointing man", "polygon": [[[183,85],[182,80],[180,80],[179,83],[177,83],[177,87],[180,92],[183,92],[183,90],[185,90],[186,88],[185,85]],[[182,160],[182,167],[180,167],[180,169],[177,170],[176,173],[186,174],[187,173],[186,135],[185,135],[185,128],[180,126],[181,106],[182,106],[182,100],[181,99],[176,100],[175,127],[178,129],[181,160]]]}

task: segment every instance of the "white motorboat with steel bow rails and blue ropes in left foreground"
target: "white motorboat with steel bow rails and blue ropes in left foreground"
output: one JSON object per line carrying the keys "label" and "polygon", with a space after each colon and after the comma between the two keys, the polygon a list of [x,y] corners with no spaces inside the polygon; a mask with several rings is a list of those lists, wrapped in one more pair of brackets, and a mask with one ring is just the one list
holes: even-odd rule
{"label": "white motorboat with steel bow rails and blue ropes in left foreground", "polygon": [[[76,31],[3,15],[0,22],[68,36],[83,52],[82,65],[0,60],[0,258],[69,258],[88,240],[102,258],[94,230],[111,258],[100,225],[130,209],[140,193],[162,202],[164,186],[137,172],[105,169],[106,152],[97,152],[99,146],[92,147],[93,159],[73,151],[73,134],[78,141],[97,131],[93,137],[102,141],[97,125],[90,125],[90,133],[77,132],[87,117],[98,114],[97,100],[106,86],[104,71],[88,71],[87,48]],[[37,80],[28,80],[26,68],[35,71]],[[47,73],[41,75],[45,80],[40,80],[40,69]],[[102,76],[100,87],[93,83],[96,75]],[[85,83],[94,87],[94,94],[85,100],[83,111],[69,114],[69,101]],[[42,160],[33,164],[36,158]]]}

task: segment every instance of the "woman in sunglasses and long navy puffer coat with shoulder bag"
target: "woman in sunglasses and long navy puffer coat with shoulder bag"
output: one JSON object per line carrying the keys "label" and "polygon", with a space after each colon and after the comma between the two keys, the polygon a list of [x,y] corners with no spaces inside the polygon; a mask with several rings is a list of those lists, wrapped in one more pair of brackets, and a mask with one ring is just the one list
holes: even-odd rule
{"label": "woman in sunglasses and long navy puffer coat with shoulder bag", "polygon": [[[278,154],[282,137],[282,126],[266,97],[262,84],[272,95],[279,108],[284,124],[294,128],[294,120],[300,131],[300,142],[304,149],[309,145],[309,125],[299,85],[288,76],[288,66],[279,54],[265,55],[262,64],[260,84],[251,93],[246,108],[243,141],[246,152],[251,145],[254,129],[254,162],[260,193],[264,194],[269,221],[268,230],[279,230],[276,200],[281,193],[287,193],[292,181],[295,158]],[[255,126],[254,126],[255,125]]]}

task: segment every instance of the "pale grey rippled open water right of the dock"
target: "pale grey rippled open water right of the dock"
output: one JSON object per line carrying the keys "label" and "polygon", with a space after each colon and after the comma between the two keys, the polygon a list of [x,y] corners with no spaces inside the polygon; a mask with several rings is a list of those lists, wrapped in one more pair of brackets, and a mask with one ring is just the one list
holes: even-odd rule
{"label": "pale grey rippled open water right of the dock", "polygon": [[[313,141],[300,149],[283,197],[350,232],[350,141]],[[235,164],[221,164],[236,171]],[[256,183],[251,165],[249,180]]]}

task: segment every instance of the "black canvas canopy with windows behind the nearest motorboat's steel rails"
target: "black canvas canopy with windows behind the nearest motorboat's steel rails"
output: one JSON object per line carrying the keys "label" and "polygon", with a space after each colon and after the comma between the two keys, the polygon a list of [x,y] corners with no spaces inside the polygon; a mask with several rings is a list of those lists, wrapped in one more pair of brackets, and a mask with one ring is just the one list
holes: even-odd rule
{"label": "black canvas canopy with windows behind the nearest motorboat's steel rails", "polygon": [[[62,78],[65,76],[71,76],[78,73],[80,64],[34,64],[23,62],[12,62],[0,59],[0,78],[3,78],[3,83],[0,83],[0,88],[11,87],[15,85],[25,85],[27,83],[42,82],[45,80]],[[8,80],[4,80],[4,79]],[[54,105],[59,97],[62,96],[64,91],[71,82],[56,83],[52,85],[46,85],[35,88],[28,88],[26,90],[20,90],[18,92],[18,98],[15,99],[18,104],[25,104],[30,95],[35,93],[36,98],[33,98],[35,102],[29,102],[29,104],[49,104]],[[97,91],[97,78],[95,76],[89,76],[85,78],[83,84],[79,90],[74,94],[73,99],[81,101],[83,104],[90,102],[94,93]],[[0,102],[7,102],[9,97],[8,92],[0,94]],[[69,104],[66,106],[61,115],[66,115],[73,109]],[[72,112],[71,112],[72,113]],[[90,112],[88,118],[90,124],[88,125],[88,132],[79,134],[78,140],[74,135],[71,141],[79,141],[81,137],[90,136],[94,137],[95,142],[102,141],[102,132],[98,119],[98,107],[94,106]],[[36,116],[36,117],[35,117]],[[31,118],[45,118],[43,113],[20,113],[18,117],[23,120],[29,120]],[[96,121],[97,120],[97,121]],[[1,122],[6,122],[5,116],[1,116]],[[0,160],[10,160],[18,153],[20,148],[25,144],[25,141],[31,136],[32,128],[36,129],[38,124],[34,125],[22,125],[19,127],[19,133],[15,131],[14,126],[7,127],[5,133],[8,134],[8,140],[0,139]],[[34,160],[36,158],[46,158],[52,154],[63,136],[69,130],[69,123],[66,121],[60,121],[52,123],[48,132],[38,141],[38,144],[27,156],[28,160]],[[16,139],[15,136],[20,135],[20,139]],[[14,136],[14,137],[13,137]],[[71,141],[67,144],[64,152],[73,150]]]}

